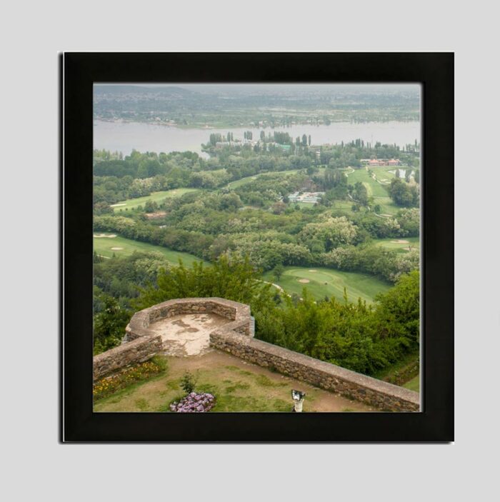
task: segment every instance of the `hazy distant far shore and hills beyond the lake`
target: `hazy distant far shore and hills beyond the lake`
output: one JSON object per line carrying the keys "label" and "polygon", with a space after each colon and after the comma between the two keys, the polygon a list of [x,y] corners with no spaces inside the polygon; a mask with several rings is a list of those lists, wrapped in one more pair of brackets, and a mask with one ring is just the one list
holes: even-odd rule
{"label": "hazy distant far shore and hills beyond the lake", "polygon": [[96,84],[94,119],[184,127],[416,121],[419,86]]}

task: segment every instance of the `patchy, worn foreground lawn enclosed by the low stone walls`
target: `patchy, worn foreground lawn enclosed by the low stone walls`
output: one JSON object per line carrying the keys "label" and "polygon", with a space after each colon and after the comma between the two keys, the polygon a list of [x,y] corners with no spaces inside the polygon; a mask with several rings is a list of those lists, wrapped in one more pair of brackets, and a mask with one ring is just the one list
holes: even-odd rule
{"label": "patchy, worn foreground lawn enclosed by the low stone walls", "polygon": [[183,397],[181,378],[185,371],[194,374],[196,392],[209,392],[216,397],[216,406],[210,413],[290,412],[292,388],[306,393],[304,411],[376,411],[219,351],[169,357],[166,373],[99,399],[94,403],[94,411],[168,412],[171,401]]}

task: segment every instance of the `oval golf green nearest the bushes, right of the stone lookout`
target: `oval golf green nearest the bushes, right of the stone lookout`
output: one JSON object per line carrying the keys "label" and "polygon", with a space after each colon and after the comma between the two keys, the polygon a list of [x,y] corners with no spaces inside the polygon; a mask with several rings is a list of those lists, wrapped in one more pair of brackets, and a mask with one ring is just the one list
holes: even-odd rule
{"label": "oval golf green nearest the bushes, right of the stone lookout", "polygon": [[356,302],[361,298],[371,303],[377,293],[385,293],[391,288],[390,283],[367,273],[343,272],[331,268],[289,266],[285,267],[279,281],[274,279],[271,272],[265,273],[263,277],[264,281],[278,284],[289,294],[296,293],[302,296],[302,289],[306,287],[316,300],[334,296],[343,301],[345,287],[349,301]]}

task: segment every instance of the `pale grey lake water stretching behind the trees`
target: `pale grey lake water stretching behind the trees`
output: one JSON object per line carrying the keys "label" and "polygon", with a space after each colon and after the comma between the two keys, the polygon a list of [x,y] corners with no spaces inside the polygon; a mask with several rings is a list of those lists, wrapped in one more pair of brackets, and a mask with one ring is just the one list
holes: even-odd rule
{"label": "pale grey lake water stretching behind the trees", "polygon": [[[254,139],[259,139],[262,129],[232,128],[232,129],[179,129],[171,126],[156,126],[139,122],[104,122],[94,121],[94,149],[121,151],[129,155],[133,149],[137,151],[196,151],[201,154],[201,144],[209,141],[211,133],[233,133],[234,139],[243,139],[244,131],[252,131]],[[311,135],[311,144],[344,143],[354,139],[363,139],[375,144],[396,144],[404,146],[420,143],[419,122],[368,122],[366,124],[351,124],[350,122],[335,122],[329,126],[297,125],[264,129],[267,134],[273,131],[285,131],[292,138],[306,134]],[[204,155],[206,156],[206,155]]]}

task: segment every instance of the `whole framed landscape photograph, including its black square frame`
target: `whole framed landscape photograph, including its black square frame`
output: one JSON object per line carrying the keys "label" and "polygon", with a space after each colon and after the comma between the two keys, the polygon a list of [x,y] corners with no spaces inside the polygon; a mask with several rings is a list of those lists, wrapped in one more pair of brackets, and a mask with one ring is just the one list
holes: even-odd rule
{"label": "whole framed landscape photograph, including its black square frame", "polygon": [[61,55],[61,441],[453,441],[454,55]]}

